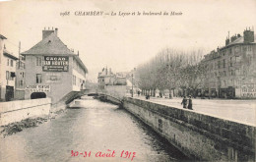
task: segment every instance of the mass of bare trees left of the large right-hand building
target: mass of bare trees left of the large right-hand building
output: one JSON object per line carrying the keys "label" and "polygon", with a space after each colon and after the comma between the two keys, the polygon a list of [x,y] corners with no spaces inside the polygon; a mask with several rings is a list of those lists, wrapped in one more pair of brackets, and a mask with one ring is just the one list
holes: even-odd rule
{"label": "mass of bare trees left of the large right-hand building", "polygon": [[166,48],[137,68],[135,78],[142,89],[175,89],[203,86],[206,69],[202,50],[183,51]]}

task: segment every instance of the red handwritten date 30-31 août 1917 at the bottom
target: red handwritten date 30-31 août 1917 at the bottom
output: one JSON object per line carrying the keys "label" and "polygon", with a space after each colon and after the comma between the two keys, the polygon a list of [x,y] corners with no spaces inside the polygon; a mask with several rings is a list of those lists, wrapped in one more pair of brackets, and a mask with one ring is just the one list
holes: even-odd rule
{"label": "red handwritten date 30-31 ao\u00fbt 1917 at the bottom", "polygon": [[[71,156],[91,157],[91,155],[92,155],[92,151],[79,152],[79,151],[71,150]],[[122,150],[119,155],[120,155],[119,157],[121,158],[127,158],[133,161],[133,159],[135,158],[136,152]],[[118,157],[116,156],[116,151],[110,150],[110,149],[107,149],[106,152],[97,151],[95,156],[96,157]]]}

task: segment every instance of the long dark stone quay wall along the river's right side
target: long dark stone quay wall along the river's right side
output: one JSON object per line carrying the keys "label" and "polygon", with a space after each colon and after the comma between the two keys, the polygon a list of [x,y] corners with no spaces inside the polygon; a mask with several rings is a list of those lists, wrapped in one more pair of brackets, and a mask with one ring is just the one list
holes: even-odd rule
{"label": "long dark stone quay wall along the river's right side", "polygon": [[123,107],[194,160],[256,161],[256,128],[125,97]]}

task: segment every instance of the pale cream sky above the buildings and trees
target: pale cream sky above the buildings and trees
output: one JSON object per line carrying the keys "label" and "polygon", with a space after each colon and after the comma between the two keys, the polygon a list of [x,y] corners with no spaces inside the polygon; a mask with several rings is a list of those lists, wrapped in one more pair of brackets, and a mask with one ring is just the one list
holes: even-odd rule
{"label": "pale cream sky above the buildings and trees", "polygon": [[[103,12],[102,16],[75,16],[76,12]],[[70,12],[69,16],[61,16]],[[111,13],[116,16],[111,16]],[[119,16],[133,13],[135,16]],[[138,15],[138,12],[141,15]],[[143,12],[161,16],[144,16]],[[182,13],[163,16],[163,12]],[[109,15],[105,15],[108,13]],[[58,36],[80,53],[96,81],[102,68],[128,72],[146,63],[166,47],[204,49],[224,46],[228,34],[256,27],[255,0],[19,0],[0,1],[0,34],[6,48],[18,56],[41,40],[42,29],[57,27]]]}

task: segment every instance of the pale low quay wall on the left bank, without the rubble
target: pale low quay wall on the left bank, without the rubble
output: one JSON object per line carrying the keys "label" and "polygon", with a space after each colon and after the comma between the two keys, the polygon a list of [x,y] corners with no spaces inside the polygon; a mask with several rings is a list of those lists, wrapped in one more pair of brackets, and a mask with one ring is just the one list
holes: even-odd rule
{"label": "pale low quay wall on the left bank, without the rubble", "polygon": [[48,116],[50,108],[50,98],[1,102],[0,126],[20,122],[27,118]]}

